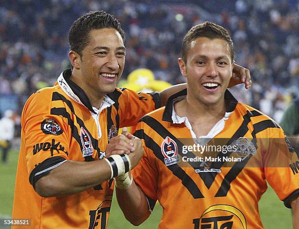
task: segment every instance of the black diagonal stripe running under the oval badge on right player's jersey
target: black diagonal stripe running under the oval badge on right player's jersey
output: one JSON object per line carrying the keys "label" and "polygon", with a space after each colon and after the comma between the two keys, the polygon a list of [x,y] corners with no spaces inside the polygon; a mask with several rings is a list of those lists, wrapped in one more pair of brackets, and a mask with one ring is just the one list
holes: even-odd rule
{"label": "black diagonal stripe running under the oval badge on right player's jersey", "polygon": [[[156,156],[157,159],[161,160],[164,163],[164,157],[160,153],[160,146],[148,135],[146,135],[143,130],[138,130],[134,133],[136,137],[145,140],[146,146],[151,149]],[[182,181],[182,184],[187,188],[187,190],[191,193],[194,199],[204,198],[201,191],[199,190],[196,183],[192,180],[191,177],[177,164],[172,164],[167,166],[169,170],[171,170],[172,174],[176,176],[178,179]]]}

